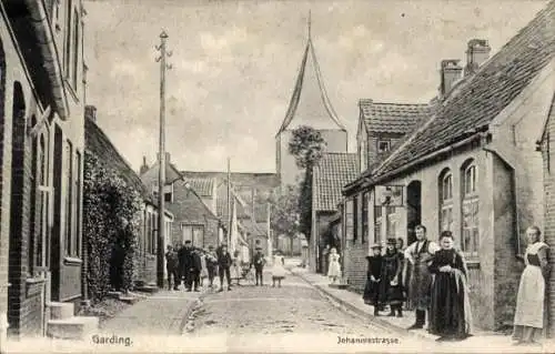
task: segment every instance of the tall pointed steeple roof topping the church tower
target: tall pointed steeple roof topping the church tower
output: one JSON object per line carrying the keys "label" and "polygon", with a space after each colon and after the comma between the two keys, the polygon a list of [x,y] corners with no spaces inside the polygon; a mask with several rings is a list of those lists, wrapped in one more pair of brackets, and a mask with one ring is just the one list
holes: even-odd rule
{"label": "tall pointed steeple roof topping the church tower", "polygon": [[309,125],[316,130],[336,129],[346,131],[345,127],[340,122],[337,113],[335,113],[325,91],[324,81],[314,51],[314,44],[312,43],[312,19],[310,12],[307,32],[306,47],[304,49],[293,94],[283,123],[276,135],[287,128],[293,128],[291,127],[293,121],[295,127]]}

